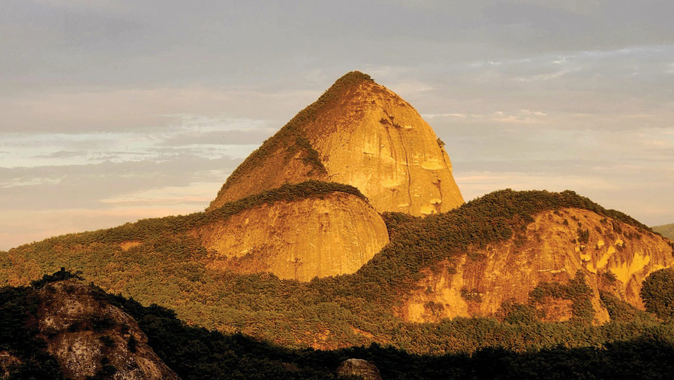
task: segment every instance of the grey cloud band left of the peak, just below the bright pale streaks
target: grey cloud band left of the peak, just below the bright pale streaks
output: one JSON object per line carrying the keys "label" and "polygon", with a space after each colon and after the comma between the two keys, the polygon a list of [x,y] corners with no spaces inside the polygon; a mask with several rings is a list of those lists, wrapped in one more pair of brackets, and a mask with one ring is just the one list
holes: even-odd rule
{"label": "grey cloud band left of the peak, just below the bright pale streaks", "polygon": [[239,162],[241,159],[229,157],[175,155],[161,162],[0,168],[0,210],[52,209],[56,205],[68,209],[105,209],[108,205],[102,199],[129,193],[184,187],[190,183],[224,183]]}

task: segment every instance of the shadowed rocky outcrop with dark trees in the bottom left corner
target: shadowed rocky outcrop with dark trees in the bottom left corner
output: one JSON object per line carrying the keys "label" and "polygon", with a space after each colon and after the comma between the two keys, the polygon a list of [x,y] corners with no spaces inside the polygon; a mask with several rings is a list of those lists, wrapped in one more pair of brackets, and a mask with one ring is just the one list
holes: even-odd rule
{"label": "shadowed rocky outcrop with dark trees in the bottom left corner", "polygon": [[[48,278],[50,276],[46,276]],[[0,366],[17,378],[178,379],[133,317],[70,273],[0,289]]]}

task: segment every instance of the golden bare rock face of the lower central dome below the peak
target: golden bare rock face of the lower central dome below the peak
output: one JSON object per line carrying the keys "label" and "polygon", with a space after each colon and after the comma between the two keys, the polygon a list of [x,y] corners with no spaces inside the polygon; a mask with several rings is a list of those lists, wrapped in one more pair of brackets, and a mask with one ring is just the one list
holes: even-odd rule
{"label": "golden bare rock face of the lower central dome below the peak", "polygon": [[388,244],[381,216],[344,192],[262,204],[193,233],[217,252],[215,268],[299,281],[354,273]]}

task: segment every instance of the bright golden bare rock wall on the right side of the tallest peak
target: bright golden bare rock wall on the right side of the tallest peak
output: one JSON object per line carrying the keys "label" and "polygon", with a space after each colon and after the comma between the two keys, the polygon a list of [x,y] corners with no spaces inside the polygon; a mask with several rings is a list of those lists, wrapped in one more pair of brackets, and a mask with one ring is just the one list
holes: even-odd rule
{"label": "bright golden bare rock wall on the right side of the tallest peak", "polygon": [[331,181],[355,186],[379,211],[412,215],[463,204],[451,162],[414,107],[374,82],[364,82],[340,107],[322,114],[307,136]]}

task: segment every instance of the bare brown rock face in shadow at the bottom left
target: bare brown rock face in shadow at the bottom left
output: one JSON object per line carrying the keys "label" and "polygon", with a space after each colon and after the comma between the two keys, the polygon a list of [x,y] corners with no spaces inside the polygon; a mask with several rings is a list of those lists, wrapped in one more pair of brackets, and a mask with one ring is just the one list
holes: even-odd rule
{"label": "bare brown rock face in shadow at the bottom left", "polygon": [[39,331],[66,377],[114,372],[112,379],[178,379],[147,345],[136,321],[86,285],[53,282],[39,297]]}

